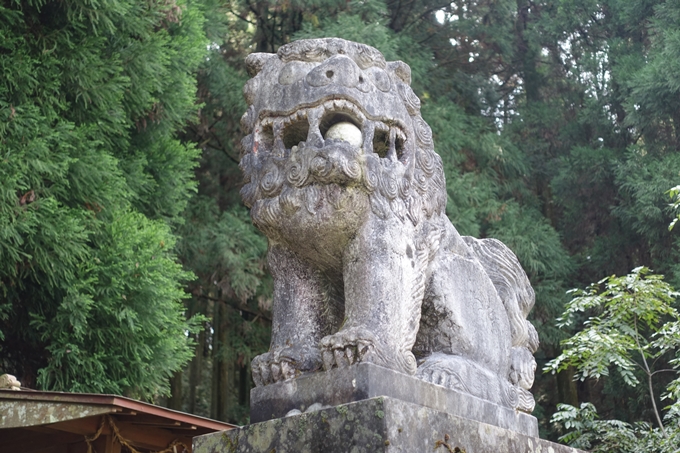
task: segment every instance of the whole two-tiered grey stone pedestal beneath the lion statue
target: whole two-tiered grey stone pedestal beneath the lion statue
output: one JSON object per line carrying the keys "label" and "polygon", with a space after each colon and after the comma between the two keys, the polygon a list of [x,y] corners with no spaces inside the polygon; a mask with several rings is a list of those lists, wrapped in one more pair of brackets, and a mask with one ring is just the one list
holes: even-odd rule
{"label": "whole two-tiered grey stone pedestal beneath the lion statue", "polygon": [[194,452],[577,452],[539,439],[531,415],[367,363],[255,388],[251,421]]}

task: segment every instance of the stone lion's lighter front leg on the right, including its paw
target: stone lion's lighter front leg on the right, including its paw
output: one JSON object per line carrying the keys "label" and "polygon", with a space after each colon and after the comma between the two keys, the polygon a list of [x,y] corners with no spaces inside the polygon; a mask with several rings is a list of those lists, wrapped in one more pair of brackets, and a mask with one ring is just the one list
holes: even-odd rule
{"label": "stone lion's lighter front leg on the right, including its paw", "polygon": [[321,341],[324,367],[371,362],[414,374],[422,263],[409,222],[372,217],[343,257],[345,319]]}

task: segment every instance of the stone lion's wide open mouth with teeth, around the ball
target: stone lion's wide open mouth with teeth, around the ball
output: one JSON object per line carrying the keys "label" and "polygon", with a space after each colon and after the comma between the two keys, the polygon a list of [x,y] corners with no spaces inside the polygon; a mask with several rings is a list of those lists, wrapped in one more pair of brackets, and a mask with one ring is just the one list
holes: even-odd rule
{"label": "stone lion's wide open mouth with teeth, around the ball", "polygon": [[[287,116],[262,118],[255,127],[255,140],[272,154],[288,156],[293,147],[322,148],[328,131],[340,123],[349,123],[361,134],[364,153],[375,153],[381,158],[402,160],[406,134],[395,121],[385,122],[368,118],[353,102],[331,99],[319,105],[301,108]],[[349,141],[349,140],[348,140]]]}

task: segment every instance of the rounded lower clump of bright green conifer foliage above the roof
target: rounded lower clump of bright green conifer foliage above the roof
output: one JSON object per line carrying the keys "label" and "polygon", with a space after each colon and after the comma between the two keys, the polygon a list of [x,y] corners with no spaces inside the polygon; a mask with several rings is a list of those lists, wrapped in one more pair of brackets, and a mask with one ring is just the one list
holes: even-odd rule
{"label": "rounded lower clump of bright green conifer foliage above the roof", "polygon": [[[41,388],[156,395],[173,370],[191,358],[181,337],[185,321],[178,281],[191,277],[169,251],[173,237],[160,221],[136,212],[102,225],[91,236],[93,265],[69,288],[56,310],[29,312],[46,344]],[[168,303],[170,302],[170,303]]]}

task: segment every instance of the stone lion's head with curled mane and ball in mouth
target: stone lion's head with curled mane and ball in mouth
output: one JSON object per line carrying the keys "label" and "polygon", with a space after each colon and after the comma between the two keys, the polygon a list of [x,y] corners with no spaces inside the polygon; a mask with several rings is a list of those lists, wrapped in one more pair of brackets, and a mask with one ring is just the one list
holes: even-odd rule
{"label": "stone lion's head with curled mane and ball in mouth", "polygon": [[296,41],[246,64],[241,195],[260,228],[313,210],[319,191],[341,205],[337,187],[360,188],[381,218],[417,225],[444,212],[441,158],[408,65],[337,38]]}

